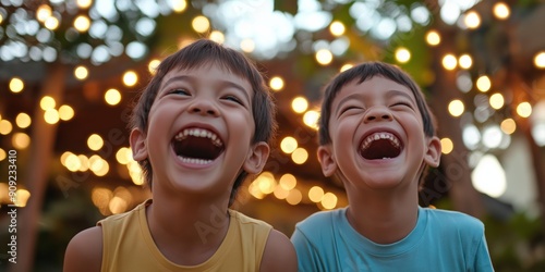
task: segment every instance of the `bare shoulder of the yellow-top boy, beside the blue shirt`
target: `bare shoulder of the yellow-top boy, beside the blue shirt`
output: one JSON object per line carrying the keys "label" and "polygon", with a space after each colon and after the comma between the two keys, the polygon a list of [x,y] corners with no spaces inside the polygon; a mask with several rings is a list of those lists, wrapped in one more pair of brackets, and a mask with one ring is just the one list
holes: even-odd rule
{"label": "bare shoulder of the yellow-top boy, beside the blue shirt", "polygon": [[262,258],[262,272],[298,271],[298,257],[291,240],[283,233],[271,230]]}

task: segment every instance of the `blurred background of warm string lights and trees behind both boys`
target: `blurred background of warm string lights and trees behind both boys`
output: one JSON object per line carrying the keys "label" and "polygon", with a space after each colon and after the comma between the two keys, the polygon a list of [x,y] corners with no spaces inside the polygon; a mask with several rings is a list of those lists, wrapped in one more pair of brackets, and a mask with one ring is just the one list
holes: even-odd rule
{"label": "blurred background of warm string lights and trees behind both boys", "polygon": [[322,89],[386,61],[437,116],[421,205],[481,219],[497,271],[545,271],[544,27],[532,0],[0,0],[0,270],[60,271],[77,232],[150,196],[130,107],[162,58],[206,37],[255,60],[278,104],[265,172],[233,208],[290,236],[344,207],[315,156]]}

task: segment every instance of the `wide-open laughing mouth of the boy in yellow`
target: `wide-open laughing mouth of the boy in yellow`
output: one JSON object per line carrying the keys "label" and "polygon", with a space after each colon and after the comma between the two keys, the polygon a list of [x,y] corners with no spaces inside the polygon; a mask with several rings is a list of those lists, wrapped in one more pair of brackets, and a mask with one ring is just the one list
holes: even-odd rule
{"label": "wide-open laughing mouth of the boy in yellow", "polygon": [[216,160],[225,150],[216,133],[204,128],[184,128],[172,139],[175,154],[189,163],[206,164]]}

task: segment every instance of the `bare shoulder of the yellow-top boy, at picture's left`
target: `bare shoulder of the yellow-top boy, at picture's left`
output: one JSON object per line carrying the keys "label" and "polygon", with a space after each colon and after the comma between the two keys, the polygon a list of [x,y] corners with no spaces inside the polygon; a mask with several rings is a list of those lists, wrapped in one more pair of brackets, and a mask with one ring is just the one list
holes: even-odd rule
{"label": "bare shoulder of the yellow-top boy, at picture's left", "polygon": [[76,234],[64,252],[64,272],[100,271],[102,263],[102,228],[89,227]]}

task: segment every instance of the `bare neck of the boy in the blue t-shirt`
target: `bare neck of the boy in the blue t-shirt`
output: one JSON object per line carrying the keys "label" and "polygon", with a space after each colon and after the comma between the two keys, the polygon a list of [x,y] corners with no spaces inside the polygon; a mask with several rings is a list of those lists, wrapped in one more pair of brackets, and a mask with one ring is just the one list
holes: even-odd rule
{"label": "bare neck of the boy in the blue t-shirt", "polygon": [[398,242],[416,225],[419,198],[415,190],[355,193],[348,198],[348,221],[356,232],[377,244]]}

